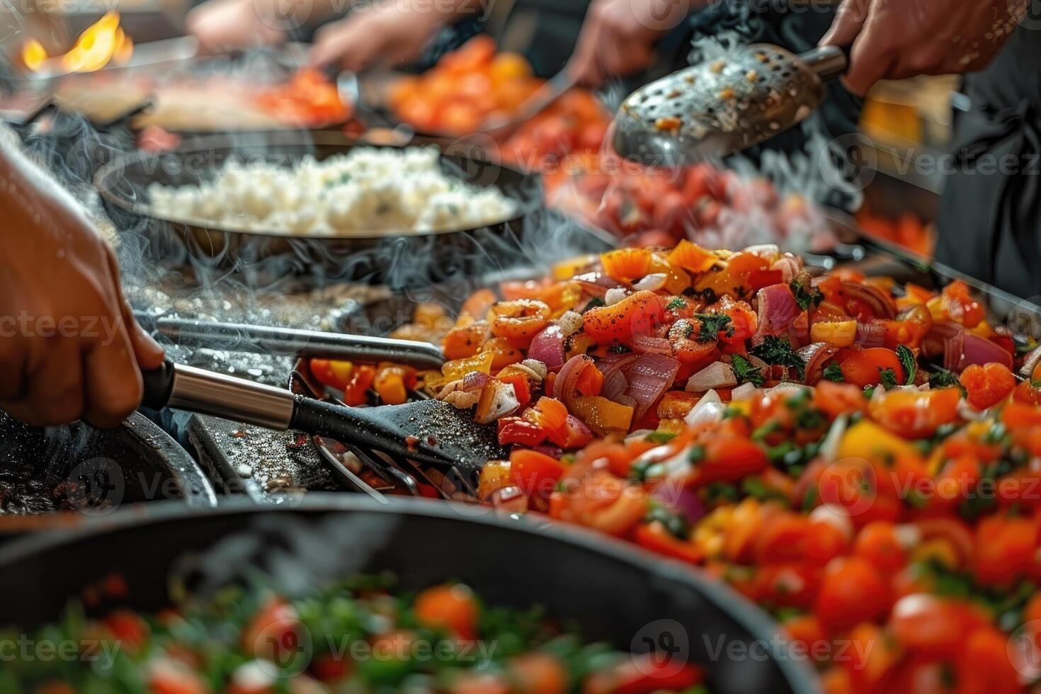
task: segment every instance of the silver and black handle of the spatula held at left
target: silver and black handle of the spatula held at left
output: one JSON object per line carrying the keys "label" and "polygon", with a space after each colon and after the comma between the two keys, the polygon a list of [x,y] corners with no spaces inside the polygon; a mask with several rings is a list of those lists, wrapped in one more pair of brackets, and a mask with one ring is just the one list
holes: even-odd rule
{"label": "silver and black handle of the spatula held at left", "polygon": [[173,407],[266,429],[285,430],[293,425],[296,401],[288,390],[169,359],[142,377],[143,405],[155,410]]}

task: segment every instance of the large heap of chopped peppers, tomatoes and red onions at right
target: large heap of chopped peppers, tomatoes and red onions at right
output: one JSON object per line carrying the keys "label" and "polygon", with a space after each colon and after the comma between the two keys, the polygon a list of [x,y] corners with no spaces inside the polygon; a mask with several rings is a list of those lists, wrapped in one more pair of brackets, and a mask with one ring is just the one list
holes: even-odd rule
{"label": "large heap of chopped peppers, tomatoes and red onions at right", "polygon": [[817,661],[831,692],[1041,676],[1007,652],[1041,629],[1041,350],[964,283],[681,241],[479,291],[441,344],[418,382],[512,446],[487,504],[702,566],[808,645],[870,644]]}

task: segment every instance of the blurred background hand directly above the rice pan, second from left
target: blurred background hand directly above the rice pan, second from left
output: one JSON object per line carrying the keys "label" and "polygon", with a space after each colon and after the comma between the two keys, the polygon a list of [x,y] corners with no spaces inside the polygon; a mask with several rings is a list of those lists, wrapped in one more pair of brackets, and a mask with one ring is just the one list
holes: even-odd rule
{"label": "blurred background hand directly above the rice pan, second from left", "polygon": [[357,72],[377,57],[391,65],[414,60],[434,32],[454,15],[433,5],[407,8],[401,4],[359,7],[346,19],[322,27],[308,62],[318,68],[334,65]]}

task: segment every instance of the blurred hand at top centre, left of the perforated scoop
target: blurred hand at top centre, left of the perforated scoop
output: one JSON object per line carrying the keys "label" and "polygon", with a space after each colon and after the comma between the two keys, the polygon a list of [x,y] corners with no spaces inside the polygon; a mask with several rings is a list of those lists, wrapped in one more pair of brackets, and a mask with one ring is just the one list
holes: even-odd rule
{"label": "blurred hand at top centre, left of the perforated scoop", "polygon": [[689,9],[687,0],[593,0],[567,70],[589,86],[643,70]]}

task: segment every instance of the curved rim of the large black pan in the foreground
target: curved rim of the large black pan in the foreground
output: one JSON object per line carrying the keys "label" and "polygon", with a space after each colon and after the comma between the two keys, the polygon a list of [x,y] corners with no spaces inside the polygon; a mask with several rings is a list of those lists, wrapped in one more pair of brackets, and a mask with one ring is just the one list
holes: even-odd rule
{"label": "curved rim of the large black pan in the foreground", "polygon": [[[139,507],[139,508],[137,508]],[[575,525],[557,523],[552,520],[536,521],[527,516],[504,516],[482,511],[476,516],[473,507],[452,502],[429,502],[425,499],[396,499],[375,502],[354,494],[309,493],[293,506],[257,505],[251,499],[228,499],[217,508],[186,508],[177,502],[160,502],[137,505],[135,508],[117,510],[109,516],[84,519],[75,528],[61,528],[45,533],[35,533],[18,538],[0,546],[0,570],[11,568],[20,561],[39,552],[54,550],[64,545],[92,538],[118,535],[123,530],[141,529],[164,522],[188,520],[196,517],[256,515],[266,513],[383,513],[416,517],[435,517],[460,522],[493,526],[510,532],[523,533],[539,538],[539,541],[560,542],[604,555],[609,559],[628,564],[656,580],[684,584],[705,596],[716,608],[730,615],[747,629],[754,639],[770,642],[779,634],[779,625],[765,612],[728,588],[721,582],[702,575],[696,569],[675,560],[657,557],[639,547],[602,533]],[[820,692],[820,686],[813,670],[806,663],[782,658],[775,661],[797,692]]]}

